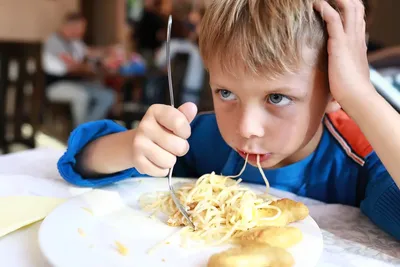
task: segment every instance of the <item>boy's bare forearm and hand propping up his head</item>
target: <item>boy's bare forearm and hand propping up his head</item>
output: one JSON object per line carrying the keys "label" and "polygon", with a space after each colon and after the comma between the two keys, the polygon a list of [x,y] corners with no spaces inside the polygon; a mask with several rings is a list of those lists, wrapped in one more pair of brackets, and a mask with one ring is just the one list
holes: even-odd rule
{"label": "boy's bare forearm and hand propping up his head", "polygon": [[329,85],[333,98],[358,124],[389,174],[400,186],[400,115],[369,77],[364,6],[359,0],[315,2],[327,25]]}

